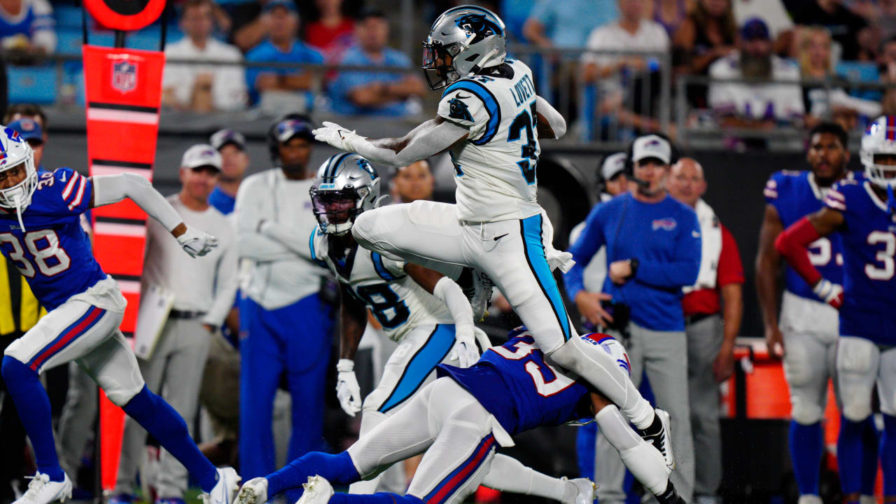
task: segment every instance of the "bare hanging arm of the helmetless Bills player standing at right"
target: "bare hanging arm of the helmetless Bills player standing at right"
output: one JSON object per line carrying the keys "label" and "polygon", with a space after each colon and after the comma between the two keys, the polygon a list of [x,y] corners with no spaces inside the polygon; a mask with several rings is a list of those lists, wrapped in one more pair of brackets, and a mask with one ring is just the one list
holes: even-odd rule
{"label": "bare hanging arm of the helmetless Bills player standing at right", "polygon": [[765,205],[765,216],[759,230],[759,251],[756,253],[756,294],[759,308],[762,310],[762,321],[765,326],[765,344],[773,357],[782,357],[784,339],[778,328],[778,272],[780,255],[775,250],[784,226],[781,224],[778,210],[772,204]]}

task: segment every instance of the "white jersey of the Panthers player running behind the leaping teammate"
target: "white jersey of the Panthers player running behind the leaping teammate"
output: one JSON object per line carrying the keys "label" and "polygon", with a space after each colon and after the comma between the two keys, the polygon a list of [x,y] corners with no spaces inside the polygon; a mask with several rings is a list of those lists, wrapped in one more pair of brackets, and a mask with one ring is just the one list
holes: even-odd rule
{"label": "white jersey of the Panthers player running behind the leaping teammate", "polygon": [[417,326],[454,324],[448,307],[405,273],[403,261],[393,261],[360,246],[338,258],[330,253],[327,235],[317,227],[311,233],[310,245],[314,261],[330,268],[336,279],[370,308],[393,341],[401,341]]}

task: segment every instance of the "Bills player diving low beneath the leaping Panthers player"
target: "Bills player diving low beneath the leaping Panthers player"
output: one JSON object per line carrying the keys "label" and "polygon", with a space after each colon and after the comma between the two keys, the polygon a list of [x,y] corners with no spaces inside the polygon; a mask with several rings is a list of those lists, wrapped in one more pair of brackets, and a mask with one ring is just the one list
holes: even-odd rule
{"label": "Bills player diving low beneath the leaping Panthers player", "polygon": [[[608,335],[581,338],[617,362],[612,372],[627,376],[628,356],[621,343]],[[514,329],[507,343],[484,352],[474,366],[440,364],[438,374],[401,411],[348,450],[309,453],[268,475],[262,485],[247,482],[236,504],[263,504],[298,485],[304,485],[305,493],[297,504],[460,504],[493,477],[495,451],[513,446],[513,435],[588,417],[598,422],[625,465],[660,504],[684,504],[657,449],[635,434],[616,405],[556,368],[525,327]],[[332,483],[370,477],[420,453],[423,459],[406,495],[332,490]],[[516,477],[504,474],[505,480]]]}

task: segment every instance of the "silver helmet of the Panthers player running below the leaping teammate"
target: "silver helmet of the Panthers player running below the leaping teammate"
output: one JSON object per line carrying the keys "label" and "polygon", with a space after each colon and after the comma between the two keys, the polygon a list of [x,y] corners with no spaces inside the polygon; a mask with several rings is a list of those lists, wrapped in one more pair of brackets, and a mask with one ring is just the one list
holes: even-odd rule
{"label": "silver helmet of the Panthers player running below the leaping teammate", "polygon": [[344,235],[359,213],[375,208],[380,176],[370,161],[354,153],[341,153],[323,161],[311,187],[317,224],[327,234]]}

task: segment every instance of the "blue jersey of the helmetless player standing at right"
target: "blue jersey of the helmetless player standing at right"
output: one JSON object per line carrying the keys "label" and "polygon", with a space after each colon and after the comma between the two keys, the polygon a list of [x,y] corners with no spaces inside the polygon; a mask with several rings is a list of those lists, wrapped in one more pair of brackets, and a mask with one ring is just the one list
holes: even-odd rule
{"label": "blue jersey of the helmetless player standing at right", "polygon": [[[852,178],[850,172],[849,178]],[[781,224],[787,229],[823,206],[823,191],[815,184],[811,171],[782,170],[775,172],[765,184],[765,201],[778,211]],[[824,278],[834,283],[843,282],[843,255],[840,236],[834,234],[816,239],[809,245],[809,260]],[[822,301],[812,287],[790,265],[785,265],[785,283],[788,291],[809,300]]]}

